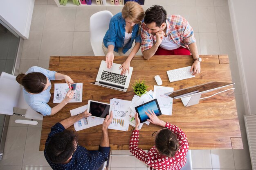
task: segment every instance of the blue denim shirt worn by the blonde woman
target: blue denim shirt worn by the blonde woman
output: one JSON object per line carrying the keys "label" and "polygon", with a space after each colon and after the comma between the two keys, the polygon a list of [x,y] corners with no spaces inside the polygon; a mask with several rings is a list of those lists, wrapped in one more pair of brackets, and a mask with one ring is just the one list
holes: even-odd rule
{"label": "blue denim shirt worn by the blonde woman", "polygon": [[132,28],[132,38],[124,46],[125,26],[126,22],[122,17],[121,12],[117,13],[111,18],[109,23],[109,29],[106,32],[105,37],[103,38],[103,43],[107,48],[109,45],[113,45],[115,52],[118,52],[119,48],[123,48],[123,53],[126,53],[132,47],[132,43],[134,40],[135,43],[141,43],[140,35],[138,35],[139,24],[135,24]]}

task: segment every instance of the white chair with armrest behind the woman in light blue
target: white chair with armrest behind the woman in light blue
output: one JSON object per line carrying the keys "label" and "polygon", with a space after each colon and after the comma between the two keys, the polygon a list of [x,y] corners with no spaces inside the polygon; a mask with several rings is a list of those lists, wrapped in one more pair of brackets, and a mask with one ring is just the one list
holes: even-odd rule
{"label": "white chair with armrest behind the woman in light blue", "polygon": [[23,97],[22,87],[20,87],[20,84],[15,80],[15,78],[16,76],[5,72],[2,72],[0,76],[0,114],[20,115],[13,113],[13,107],[26,109],[25,118],[32,120],[16,120],[15,122],[36,125],[38,122],[33,121],[33,119],[43,120],[43,115],[37,113],[27,105],[27,102]]}

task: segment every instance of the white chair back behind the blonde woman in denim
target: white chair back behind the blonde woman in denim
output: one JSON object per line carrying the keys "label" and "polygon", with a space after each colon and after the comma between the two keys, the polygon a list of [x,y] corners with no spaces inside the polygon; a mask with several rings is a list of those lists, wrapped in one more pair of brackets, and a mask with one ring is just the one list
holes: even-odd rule
{"label": "white chair back behind the blonde woman in denim", "polygon": [[90,41],[95,56],[105,56],[102,41],[108,31],[112,16],[110,11],[100,11],[90,17]]}

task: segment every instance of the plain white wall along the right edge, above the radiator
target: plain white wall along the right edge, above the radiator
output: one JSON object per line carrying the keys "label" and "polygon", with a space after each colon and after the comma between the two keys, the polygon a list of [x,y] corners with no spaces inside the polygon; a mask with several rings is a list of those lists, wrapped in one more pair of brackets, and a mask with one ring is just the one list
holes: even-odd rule
{"label": "plain white wall along the right edge, above the radiator", "polygon": [[256,114],[256,0],[229,0],[246,114]]}

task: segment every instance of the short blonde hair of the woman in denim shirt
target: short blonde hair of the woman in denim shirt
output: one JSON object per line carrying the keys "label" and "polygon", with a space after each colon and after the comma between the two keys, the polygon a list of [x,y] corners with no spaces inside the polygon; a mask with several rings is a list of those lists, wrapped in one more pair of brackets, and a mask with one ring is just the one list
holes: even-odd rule
{"label": "short blonde hair of the woman in denim shirt", "polygon": [[137,2],[129,1],[126,2],[122,9],[122,17],[124,19],[128,17],[135,24],[139,24],[143,20],[144,10]]}

